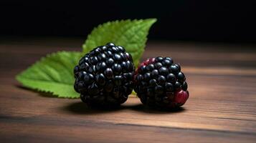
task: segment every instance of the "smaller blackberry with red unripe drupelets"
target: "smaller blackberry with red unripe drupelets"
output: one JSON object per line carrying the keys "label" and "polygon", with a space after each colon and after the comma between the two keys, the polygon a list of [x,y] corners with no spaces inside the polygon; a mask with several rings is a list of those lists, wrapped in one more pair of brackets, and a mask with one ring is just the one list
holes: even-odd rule
{"label": "smaller blackberry with red unripe drupelets", "polygon": [[143,104],[170,109],[180,107],[189,98],[186,77],[170,57],[143,61],[133,76],[134,90]]}

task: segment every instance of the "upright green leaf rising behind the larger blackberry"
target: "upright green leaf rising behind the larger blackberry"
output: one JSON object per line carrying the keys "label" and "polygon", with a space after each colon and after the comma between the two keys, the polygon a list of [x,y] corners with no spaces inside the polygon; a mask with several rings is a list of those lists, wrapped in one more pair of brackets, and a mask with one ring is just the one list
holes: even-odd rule
{"label": "upright green leaf rising behind the larger blackberry", "polygon": [[137,66],[146,46],[148,31],[155,22],[156,19],[121,20],[99,25],[87,36],[82,52],[86,54],[97,46],[113,42],[124,46]]}

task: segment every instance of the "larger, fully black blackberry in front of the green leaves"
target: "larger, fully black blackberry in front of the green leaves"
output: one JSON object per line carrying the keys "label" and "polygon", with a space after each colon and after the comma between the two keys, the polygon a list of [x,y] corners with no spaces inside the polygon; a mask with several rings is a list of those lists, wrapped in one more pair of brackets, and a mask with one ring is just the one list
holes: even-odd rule
{"label": "larger, fully black blackberry in front of the green leaves", "polygon": [[118,107],[133,91],[135,67],[122,46],[98,46],[74,68],[75,91],[82,102],[94,107]]}

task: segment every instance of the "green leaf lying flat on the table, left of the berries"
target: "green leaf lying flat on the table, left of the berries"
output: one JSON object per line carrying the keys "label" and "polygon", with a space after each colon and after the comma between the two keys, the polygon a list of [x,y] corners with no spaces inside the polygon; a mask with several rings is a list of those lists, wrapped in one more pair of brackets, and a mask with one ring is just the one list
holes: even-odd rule
{"label": "green leaf lying flat on the table, left of the berries", "polygon": [[73,87],[73,68],[80,57],[81,53],[76,51],[48,54],[18,74],[16,79],[29,89],[50,92],[57,97],[78,98]]}

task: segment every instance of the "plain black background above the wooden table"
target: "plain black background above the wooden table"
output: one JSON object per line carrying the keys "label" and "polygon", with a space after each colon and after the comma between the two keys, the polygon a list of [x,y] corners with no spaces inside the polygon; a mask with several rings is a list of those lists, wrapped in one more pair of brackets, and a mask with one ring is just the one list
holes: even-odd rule
{"label": "plain black background above the wooden table", "polygon": [[0,36],[87,36],[115,19],[157,18],[150,39],[256,43],[253,1],[1,1]]}

